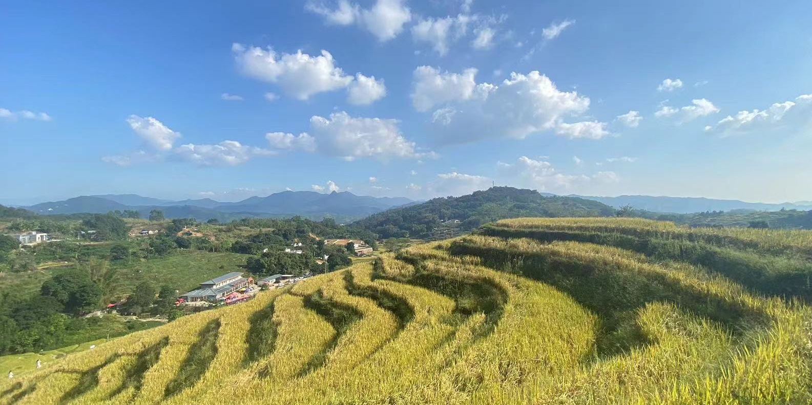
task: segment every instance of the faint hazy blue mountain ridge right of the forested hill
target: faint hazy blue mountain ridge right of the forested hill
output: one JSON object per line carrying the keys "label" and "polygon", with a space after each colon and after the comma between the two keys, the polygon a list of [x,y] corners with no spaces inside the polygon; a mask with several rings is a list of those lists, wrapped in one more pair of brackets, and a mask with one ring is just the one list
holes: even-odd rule
{"label": "faint hazy blue mountain ridge right of the forested hill", "polygon": [[[551,194],[550,194],[551,195]],[[754,210],[754,211],[780,211],[781,208],[787,210],[812,210],[812,202],[799,201],[797,203],[745,203],[739,200],[722,200],[702,197],[652,197],[649,195],[620,195],[617,197],[595,197],[590,195],[570,194],[568,197],[586,198],[608,206],[619,208],[630,204],[641,210],[655,212],[672,212],[675,214],[690,214],[693,212],[705,211],[733,211],[733,210]]]}

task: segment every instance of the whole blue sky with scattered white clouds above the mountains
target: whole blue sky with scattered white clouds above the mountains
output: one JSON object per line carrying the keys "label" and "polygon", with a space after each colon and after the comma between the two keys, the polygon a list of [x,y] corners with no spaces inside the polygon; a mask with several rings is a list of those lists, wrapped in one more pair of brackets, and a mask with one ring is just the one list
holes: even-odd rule
{"label": "whole blue sky with scattered white clouds above the mountains", "polygon": [[809,15],[804,1],[6,2],[0,203],[492,182],[812,200]]}

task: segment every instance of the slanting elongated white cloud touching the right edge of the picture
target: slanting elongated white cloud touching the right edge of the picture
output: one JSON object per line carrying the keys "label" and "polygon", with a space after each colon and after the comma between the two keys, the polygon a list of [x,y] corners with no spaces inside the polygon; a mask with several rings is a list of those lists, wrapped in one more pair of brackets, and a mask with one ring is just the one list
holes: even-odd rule
{"label": "slanting elongated white cloud touching the right edge of the picture", "polygon": [[[764,110],[740,111],[735,116],[724,117],[715,126],[705,130],[719,134],[741,134],[753,130],[767,130],[780,125],[790,125],[797,121],[809,121],[812,114],[812,94],[797,96],[794,101],[774,103]],[[805,118],[806,117],[806,118]]]}

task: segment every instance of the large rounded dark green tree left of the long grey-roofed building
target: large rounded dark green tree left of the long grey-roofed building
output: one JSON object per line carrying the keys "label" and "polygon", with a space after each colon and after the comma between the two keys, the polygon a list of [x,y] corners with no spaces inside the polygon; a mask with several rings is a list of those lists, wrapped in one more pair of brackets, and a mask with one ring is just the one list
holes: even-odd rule
{"label": "large rounded dark green tree left of the long grey-roofed building", "polygon": [[102,288],[87,271],[73,269],[54,275],[42,283],[41,295],[53,296],[68,313],[80,314],[94,309],[102,298]]}

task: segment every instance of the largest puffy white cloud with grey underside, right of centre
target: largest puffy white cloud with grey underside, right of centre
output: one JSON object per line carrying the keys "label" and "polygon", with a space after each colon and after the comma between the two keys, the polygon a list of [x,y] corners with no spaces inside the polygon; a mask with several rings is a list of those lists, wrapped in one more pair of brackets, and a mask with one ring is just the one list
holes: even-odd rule
{"label": "largest puffy white cloud with grey underside, right of centre", "polygon": [[546,75],[533,70],[512,73],[499,86],[476,83],[477,70],[461,74],[419,66],[412,82],[412,104],[417,111],[434,110],[431,125],[446,143],[470,142],[488,137],[522,139],[555,129],[570,138],[599,139],[607,135],[606,123],[563,123],[568,116],[584,113],[590,99],[577,92],[562,92]]}

